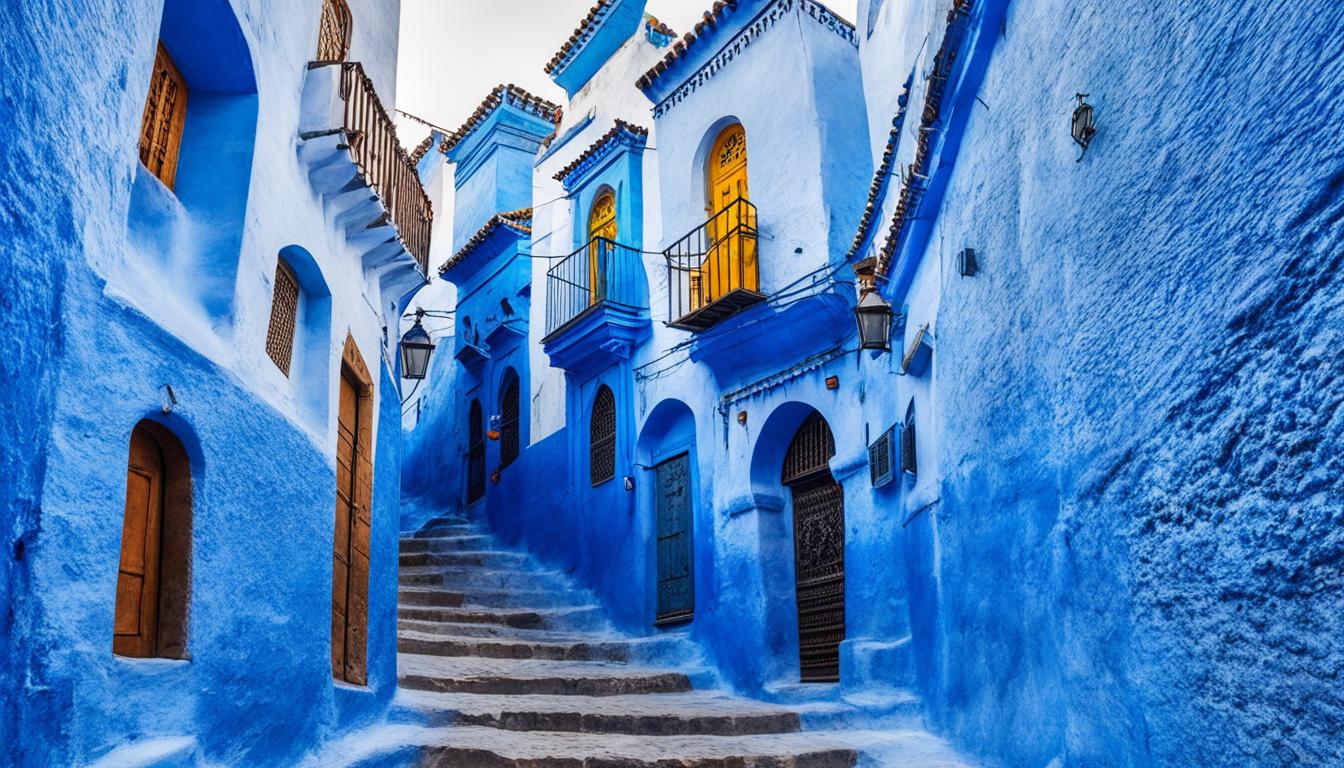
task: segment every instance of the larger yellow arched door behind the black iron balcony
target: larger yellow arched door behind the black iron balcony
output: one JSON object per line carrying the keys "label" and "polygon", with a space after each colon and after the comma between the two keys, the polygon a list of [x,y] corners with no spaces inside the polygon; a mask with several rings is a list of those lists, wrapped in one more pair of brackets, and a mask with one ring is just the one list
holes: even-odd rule
{"label": "larger yellow arched door behind the black iron balcony", "polygon": [[747,135],[742,124],[724,128],[714,141],[708,184],[710,242],[699,274],[691,281],[692,308],[759,286],[755,238],[743,237],[755,222],[746,221],[749,210],[738,202],[747,200]]}

